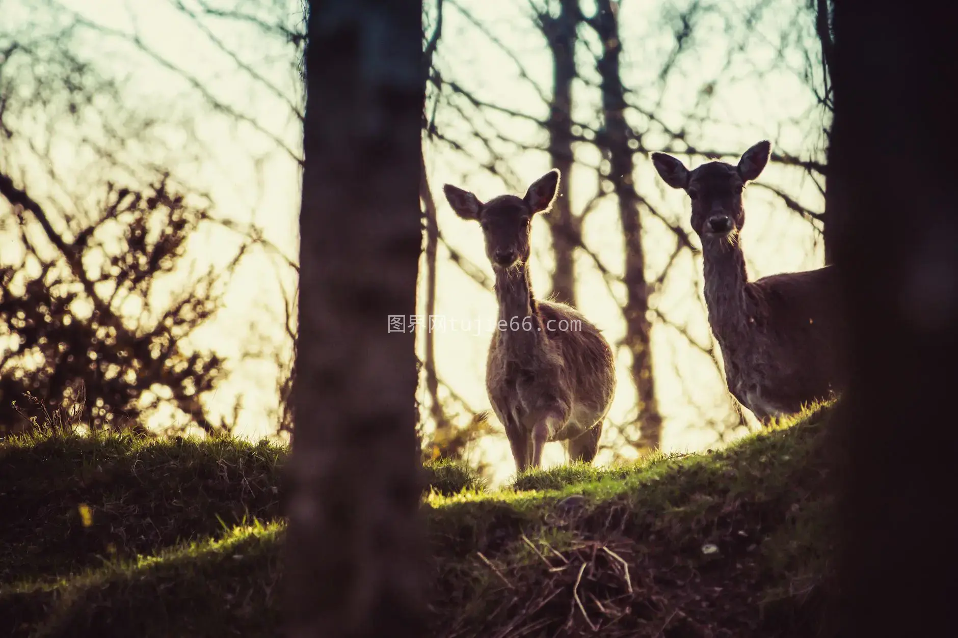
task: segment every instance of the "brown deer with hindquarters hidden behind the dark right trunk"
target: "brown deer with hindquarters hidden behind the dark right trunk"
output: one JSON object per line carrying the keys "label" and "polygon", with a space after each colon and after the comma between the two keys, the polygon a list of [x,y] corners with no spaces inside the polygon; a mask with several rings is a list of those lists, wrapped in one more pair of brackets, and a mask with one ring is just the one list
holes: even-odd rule
{"label": "brown deer with hindquarters hidden behind the dark right trunk", "polygon": [[767,141],[759,142],[742,154],[738,166],[709,162],[695,171],[671,155],[652,153],[666,184],[692,200],[709,324],[725,361],[728,389],[764,424],[843,387],[833,267],[748,281],[740,241],[741,192],[762,173],[770,149]]}

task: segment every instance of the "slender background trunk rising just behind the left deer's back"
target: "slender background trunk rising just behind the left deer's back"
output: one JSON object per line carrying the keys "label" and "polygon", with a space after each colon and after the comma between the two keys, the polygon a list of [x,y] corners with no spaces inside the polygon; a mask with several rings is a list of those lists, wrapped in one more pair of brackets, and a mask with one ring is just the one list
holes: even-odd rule
{"label": "slender background trunk rising just behind the left deer's back", "polygon": [[553,98],[549,107],[549,155],[552,166],[562,174],[559,198],[546,216],[552,231],[556,268],[552,273],[552,294],[563,304],[576,303],[576,238],[579,225],[572,215],[572,80],[576,79],[576,41],[582,13],[579,0],[559,0],[559,15],[548,11],[538,16],[539,27],[552,51]]}

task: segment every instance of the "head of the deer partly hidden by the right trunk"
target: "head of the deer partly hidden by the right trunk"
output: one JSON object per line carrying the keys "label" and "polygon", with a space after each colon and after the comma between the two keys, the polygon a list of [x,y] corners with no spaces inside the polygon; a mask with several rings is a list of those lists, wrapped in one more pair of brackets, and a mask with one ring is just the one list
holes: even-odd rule
{"label": "head of the deer partly hidden by the right trunk", "polygon": [[692,200],[692,228],[703,241],[739,233],[745,224],[741,191],[758,177],[768,162],[771,145],[762,141],[746,150],[737,166],[709,162],[689,171],[665,153],[652,153],[655,170],[673,189],[682,189]]}

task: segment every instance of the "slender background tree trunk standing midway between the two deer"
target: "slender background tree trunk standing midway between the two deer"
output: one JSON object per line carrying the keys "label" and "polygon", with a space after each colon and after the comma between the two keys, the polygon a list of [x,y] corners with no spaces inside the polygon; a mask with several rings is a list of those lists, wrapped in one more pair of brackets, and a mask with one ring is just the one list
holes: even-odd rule
{"label": "slender background tree trunk standing midway between the two deer", "polygon": [[655,399],[652,376],[651,325],[649,322],[649,287],[646,285],[646,257],[642,248],[642,221],[639,217],[639,194],[635,191],[632,173],[635,165],[629,148],[626,122],[626,92],[622,85],[619,56],[619,3],[598,0],[598,11],[590,23],[602,41],[603,53],[598,61],[602,78],[604,129],[599,145],[609,162],[608,179],[619,201],[619,219],[625,241],[626,267],[623,281],[627,298],[623,315],[626,319],[624,343],[632,356],[631,376],[635,384],[636,421],[639,443],[654,449],[662,440],[662,416]]}

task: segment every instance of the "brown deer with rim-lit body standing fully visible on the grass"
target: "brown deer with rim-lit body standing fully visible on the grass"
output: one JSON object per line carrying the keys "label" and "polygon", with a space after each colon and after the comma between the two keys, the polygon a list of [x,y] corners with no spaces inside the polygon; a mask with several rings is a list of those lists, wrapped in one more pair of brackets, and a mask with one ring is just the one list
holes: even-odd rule
{"label": "brown deer with rim-lit body standing fully visible on the grass", "polygon": [[574,308],[536,300],[529,279],[530,224],[552,206],[559,171],[545,173],[525,196],[483,203],[444,187],[456,214],[478,221],[495,271],[499,304],[486,366],[492,410],[506,429],[520,472],[539,467],[542,447],[565,442],[573,461],[591,463],[615,394],[615,362],[602,333]]}

